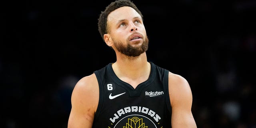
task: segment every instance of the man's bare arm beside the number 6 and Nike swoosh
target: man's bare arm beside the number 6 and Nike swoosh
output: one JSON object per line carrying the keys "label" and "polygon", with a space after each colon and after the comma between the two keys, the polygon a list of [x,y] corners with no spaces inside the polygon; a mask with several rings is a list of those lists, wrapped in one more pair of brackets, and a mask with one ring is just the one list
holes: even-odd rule
{"label": "man's bare arm beside the number 6 and Nike swoosh", "polygon": [[92,128],[98,101],[99,87],[95,74],[79,80],[71,96],[68,128]]}

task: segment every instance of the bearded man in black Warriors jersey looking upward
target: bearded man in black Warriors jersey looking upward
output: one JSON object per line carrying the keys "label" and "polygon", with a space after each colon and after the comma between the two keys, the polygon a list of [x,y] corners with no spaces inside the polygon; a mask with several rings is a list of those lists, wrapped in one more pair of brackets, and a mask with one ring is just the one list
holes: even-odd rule
{"label": "bearded man in black Warriors jersey looking upward", "polygon": [[196,128],[186,79],[147,61],[138,8],[129,0],[112,2],[98,28],[116,62],[78,81],[68,128]]}

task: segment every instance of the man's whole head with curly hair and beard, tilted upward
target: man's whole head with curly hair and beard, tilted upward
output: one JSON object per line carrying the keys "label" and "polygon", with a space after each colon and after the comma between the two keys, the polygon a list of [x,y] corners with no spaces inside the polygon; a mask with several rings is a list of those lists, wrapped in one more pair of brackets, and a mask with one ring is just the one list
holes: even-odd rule
{"label": "man's whole head with curly hair and beard, tilted upward", "polygon": [[148,50],[142,14],[130,0],[116,0],[101,13],[99,32],[116,54],[137,57]]}

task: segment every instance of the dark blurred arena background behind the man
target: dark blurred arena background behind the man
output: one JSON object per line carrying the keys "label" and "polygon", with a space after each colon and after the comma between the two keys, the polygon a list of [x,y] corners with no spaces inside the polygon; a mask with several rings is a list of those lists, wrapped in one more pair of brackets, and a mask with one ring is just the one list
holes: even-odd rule
{"label": "dark blurred arena background behind the man", "polygon": [[[97,26],[110,2],[1,2],[1,128],[67,127],[76,82],[116,60]],[[256,1],[134,3],[148,61],[188,80],[198,128],[256,128]]]}

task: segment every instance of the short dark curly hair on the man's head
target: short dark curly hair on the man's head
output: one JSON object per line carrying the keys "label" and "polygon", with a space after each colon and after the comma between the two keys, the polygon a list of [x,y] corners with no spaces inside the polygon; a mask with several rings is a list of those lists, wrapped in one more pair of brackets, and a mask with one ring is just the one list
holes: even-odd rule
{"label": "short dark curly hair on the man's head", "polygon": [[140,10],[136,7],[136,5],[130,1],[130,0],[116,0],[114,2],[111,2],[104,11],[101,12],[100,17],[98,18],[98,30],[100,32],[100,35],[102,37],[102,39],[104,40],[104,34],[108,33],[108,28],[107,28],[107,18],[108,15],[110,14],[110,12],[123,7],[123,6],[130,6],[131,8],[133,8],[134,10],[136,10],[138,12],[138,14],[140,14],[142,20],[143,20],[143,16],[142,13],[140,12]]}

